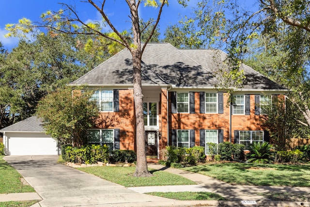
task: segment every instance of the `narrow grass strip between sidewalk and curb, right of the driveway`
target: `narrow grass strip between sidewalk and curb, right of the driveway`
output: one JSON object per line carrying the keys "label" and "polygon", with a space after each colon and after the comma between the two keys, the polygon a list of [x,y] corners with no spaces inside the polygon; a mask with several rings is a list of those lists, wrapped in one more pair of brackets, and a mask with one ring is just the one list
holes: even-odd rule
{"label": "narrow grass strip between sidewalk and curb, right of the driveway", "polygon": [[149,192],[145,194],[182,201],[227,200],[212,192]]}

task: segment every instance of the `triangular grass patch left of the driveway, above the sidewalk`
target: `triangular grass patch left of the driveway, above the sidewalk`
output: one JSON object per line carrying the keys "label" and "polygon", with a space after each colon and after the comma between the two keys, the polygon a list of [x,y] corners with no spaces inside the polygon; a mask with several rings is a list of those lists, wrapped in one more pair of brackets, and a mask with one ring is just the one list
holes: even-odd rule
{"label": "triangular grass patch left of the driveway, above the sidewalk", "polygon": [[0,194],[35,192],[29,185],[23,185],[22,176],[0,156]]}

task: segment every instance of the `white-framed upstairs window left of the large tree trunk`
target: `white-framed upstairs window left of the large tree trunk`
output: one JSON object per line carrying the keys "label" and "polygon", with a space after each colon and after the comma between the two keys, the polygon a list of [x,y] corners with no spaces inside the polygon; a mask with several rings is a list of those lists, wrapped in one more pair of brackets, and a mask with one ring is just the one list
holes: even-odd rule
{"label": "white-framed upstairs window left of the large tree trunk", "polygon": [[113,111],[113,91],[95,91],[92,98],[97,103],[100,111]]}

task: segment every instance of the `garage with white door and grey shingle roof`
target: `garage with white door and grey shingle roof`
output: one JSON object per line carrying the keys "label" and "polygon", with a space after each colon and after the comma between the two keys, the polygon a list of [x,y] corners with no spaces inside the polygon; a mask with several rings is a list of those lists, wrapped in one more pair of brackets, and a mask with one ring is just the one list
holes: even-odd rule
{"label": "garage with white door and grey shingle roof", "polygon": [[0,130],[7,155],[58,155],[57,142],[44,133],[35,116]]}

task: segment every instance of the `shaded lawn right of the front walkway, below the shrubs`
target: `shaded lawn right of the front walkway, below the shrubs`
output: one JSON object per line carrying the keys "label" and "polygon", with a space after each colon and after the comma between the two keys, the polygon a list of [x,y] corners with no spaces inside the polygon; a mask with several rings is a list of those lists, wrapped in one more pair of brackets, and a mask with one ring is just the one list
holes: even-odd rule
{"label": "shaded lawn right of the front walkway, below the shrubs", "polygon": [[186,167],[233,185],[310,187],[310,164],[207,163]]}

